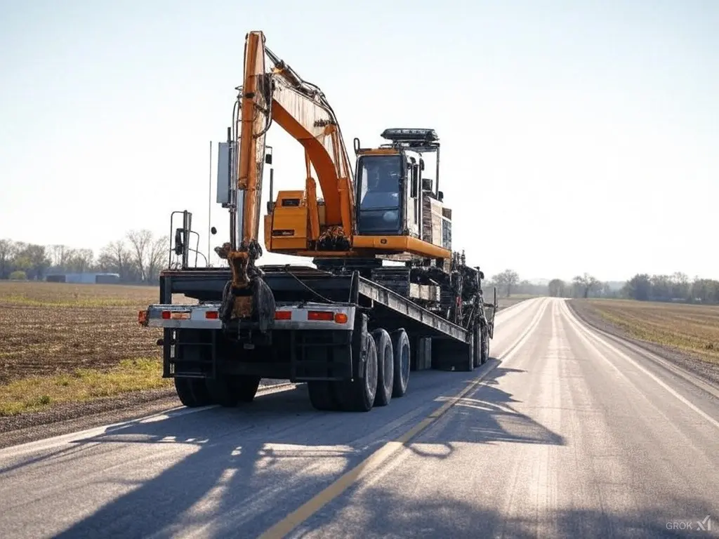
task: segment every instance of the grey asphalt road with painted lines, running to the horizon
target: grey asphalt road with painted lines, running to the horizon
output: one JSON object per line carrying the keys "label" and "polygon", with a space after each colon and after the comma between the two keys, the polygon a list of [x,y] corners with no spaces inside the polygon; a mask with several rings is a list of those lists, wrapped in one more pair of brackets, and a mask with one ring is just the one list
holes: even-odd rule
{"label": "grey asphalt road with painted lines, running to the horizon", "polygon": [[491,354],[365,414],[300,386],[4,449],[0,536],[719,535],[719,392],[562,300],[500,313]]}

